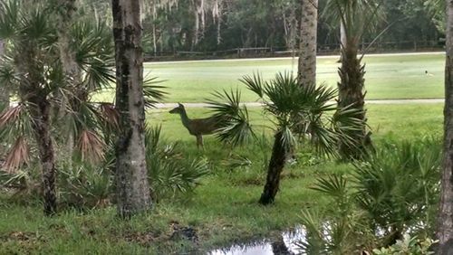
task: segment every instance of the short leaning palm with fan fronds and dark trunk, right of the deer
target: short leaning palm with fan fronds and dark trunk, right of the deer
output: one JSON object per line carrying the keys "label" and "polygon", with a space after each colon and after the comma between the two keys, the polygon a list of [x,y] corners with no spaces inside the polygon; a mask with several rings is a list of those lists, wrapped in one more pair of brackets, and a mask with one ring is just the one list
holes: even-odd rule
{"label": "short leaning palm with fan fronds and dark trunk, right of the deer", "polygon": [[[278,73],[274,80],[265,81],[260,75],[254,75],[241,81],[261,99],[265,113],[275,119],[274,146],[259,203],[275,201],[284,165],[299,141],[312,143],[320,154],[335,155],[336,141],[340,138],[351,141],[346,133],[361,125],[361,120],[354,118],[355,109],[338,109],[329,103],[335,98],[336,90],[300,86],[297,78],[287,73]],[[330,112],[335,113],[330,115]],[[244,124],[237,125],[244,123],[244,114],[228,119],[231,127],[243,127],[224,128],[235,129],[231,134],[243,134],[243,130],[249,128]]]}

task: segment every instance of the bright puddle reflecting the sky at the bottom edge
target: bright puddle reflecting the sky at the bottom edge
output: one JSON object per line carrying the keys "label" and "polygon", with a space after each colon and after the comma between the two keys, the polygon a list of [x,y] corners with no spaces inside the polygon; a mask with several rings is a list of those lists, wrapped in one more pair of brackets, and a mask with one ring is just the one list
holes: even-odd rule
{"label": "bright puddle reflecting the sky at the bottom edge", "polygon": [[305,240],[305,230],[297,227],[294,231],[286,231],[271,240],[256,241],[246,244],[235,244],[224,249],[208,252],[209,255],[289,255],[298,254],[295,241]]}

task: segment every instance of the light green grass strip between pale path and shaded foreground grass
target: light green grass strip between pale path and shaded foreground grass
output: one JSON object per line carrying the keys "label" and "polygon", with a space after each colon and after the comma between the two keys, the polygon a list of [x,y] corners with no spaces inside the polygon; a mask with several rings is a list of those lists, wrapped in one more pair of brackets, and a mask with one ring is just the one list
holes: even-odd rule
{"label": "light green grass strip between pale path and shaded foreground grass", "polygon": [[[401,139],[417,139],[421,137],[441,137],[443,123],[443,104],[388,104],[367,105],[367,118],[372,138],[377,142]],[[271,121],[263,115],[260,108],[250,108],[250,120],[255,131],[260,134],[272,133]],[[208,109],[187,109],[189,118],[204,118],[210,114]],[[416,114],[414,114],[416,113]],[[164,137],[170,141],[193,143],[195,137],[188,134],[176,114],[169,109],[153,109],[147,115],[150,126],[161,126]],[[205,142],[219,146],[216,137],[205,136]]]}

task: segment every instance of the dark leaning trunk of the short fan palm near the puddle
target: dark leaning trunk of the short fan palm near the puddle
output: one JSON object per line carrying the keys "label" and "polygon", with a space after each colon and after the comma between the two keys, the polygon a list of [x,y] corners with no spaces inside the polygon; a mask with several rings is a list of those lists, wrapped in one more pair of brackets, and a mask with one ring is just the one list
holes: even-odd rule
{"label": "dark leaning trunk of the short fan palm near the puddle", "polygon": [[265,189],[259,199],[259,203],[261,204],[274,203],[275,194],[277,194],[280,185],[280,175],[282,174],[287,154],[283,145],[282,136],[282,132],[280,131],[275,134],[272,156],[267,168]]}

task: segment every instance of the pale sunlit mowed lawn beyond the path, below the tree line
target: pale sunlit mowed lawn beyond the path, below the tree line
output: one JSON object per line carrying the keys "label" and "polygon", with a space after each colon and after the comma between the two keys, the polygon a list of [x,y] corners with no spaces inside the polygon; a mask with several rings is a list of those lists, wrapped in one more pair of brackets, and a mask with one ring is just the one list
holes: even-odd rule
{"label": "pale sunlit mowed lawn beyond the path, below the tree line", "polygon": [[[338,56],[319,57],[318,83],[336,87]],[[367,99],[443,98],[443,52],[368,55],[365,86]],[[243,101],[255,101],[255,95],[244,90],[239,81],[244,75],[261,73],[272,78],[277,71],[297,72],[297,59],[258,59],[224,61],[147,62],[145,74],[166,80],[168,102],[202,102],[215,90],[243,90]],[[427,75],[425,71],[428,71]]]}

